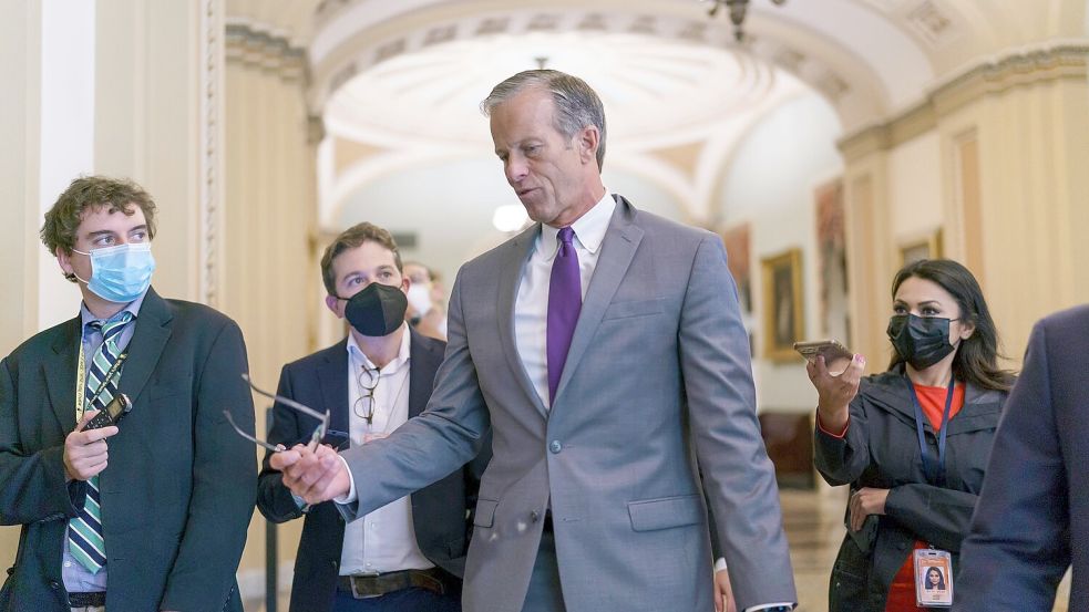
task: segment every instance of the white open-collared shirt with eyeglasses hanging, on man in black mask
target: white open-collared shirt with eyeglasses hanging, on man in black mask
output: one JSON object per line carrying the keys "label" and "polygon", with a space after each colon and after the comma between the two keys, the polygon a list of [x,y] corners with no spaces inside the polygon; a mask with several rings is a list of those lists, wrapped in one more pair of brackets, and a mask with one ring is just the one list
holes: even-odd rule
{"label": "white open-collared shirt with eyeglasses hanging, on man in black mask", "polygon": [[[348,334],[348,435],[352,446],[366,444],[372,437],[384,437],[409,419],[409,345],[410,334],[404,329],[401,349],[397,357],[382,367],[374,387],[374,412],[370,424],[361,415],[368,412],[366,392],[374,385],[374,376],[363,372],[363,366],[377,369],[359,349],[356,338]],[[423,570],[433,568],[420,551],[412,526],[412,505],[409,496],[391,501],[360,520],[345,526],[345,546],[340,553],[340,575]]]}

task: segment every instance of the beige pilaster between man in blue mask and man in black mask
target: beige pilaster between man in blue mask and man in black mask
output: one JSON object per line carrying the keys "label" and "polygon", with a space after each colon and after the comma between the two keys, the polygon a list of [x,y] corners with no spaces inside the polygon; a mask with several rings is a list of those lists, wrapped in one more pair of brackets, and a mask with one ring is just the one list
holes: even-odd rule
{"label": "beige pilaster between man in blue mask and man in black mask", "polygon": [[[268,390],[280,367],[314,351],[320,294],[311,255],[317,199],[315,141],[304,101],[300,50],[249,25],[227,37],[226,198],[218,308],[246,336],[249,370]],[[268,400],[256,396],[257,431]],[[302,521],[279,528],[280,559],[295,559]],[[260,593],[265,521],[255,515],[242,566],[244,597]]]}

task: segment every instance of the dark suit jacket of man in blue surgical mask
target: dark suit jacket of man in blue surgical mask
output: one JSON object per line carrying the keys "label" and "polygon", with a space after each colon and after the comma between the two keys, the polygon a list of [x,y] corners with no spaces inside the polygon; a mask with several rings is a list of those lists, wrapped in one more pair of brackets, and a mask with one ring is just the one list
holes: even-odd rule
{"label": "dark suit jacket of man in blue surgical mask", "polygon": [[[24,342],[0,364],[0,521],[21,525],[3,611],[68,611],[66,520],[86,495],[65,484],[75,428],[80,318]],[[254,511],[253,431],[238,326],[207,307],[148,289],[120,391],[133,409],[109,439],[100,476],[111,612],[242,610],[235,572]]]}

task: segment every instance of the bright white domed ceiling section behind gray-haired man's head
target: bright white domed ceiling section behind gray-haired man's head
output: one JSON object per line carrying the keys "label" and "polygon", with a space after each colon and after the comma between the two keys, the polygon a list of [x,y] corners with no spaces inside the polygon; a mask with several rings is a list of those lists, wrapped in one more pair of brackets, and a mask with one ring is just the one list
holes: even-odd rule
{"label": "bright white domed ceiling section behind gray-haired man's head", "polygon": [[361,72],[328,100],[326,126],[390,147],[479,152],[491,142],[480,101],[495,83],[538,63],[586,80],[605,104],[610,144],[619,138],[640,149],[705,138],[709,124],[801,89],[730,49],[638,33],[499,34],[425,46]]}

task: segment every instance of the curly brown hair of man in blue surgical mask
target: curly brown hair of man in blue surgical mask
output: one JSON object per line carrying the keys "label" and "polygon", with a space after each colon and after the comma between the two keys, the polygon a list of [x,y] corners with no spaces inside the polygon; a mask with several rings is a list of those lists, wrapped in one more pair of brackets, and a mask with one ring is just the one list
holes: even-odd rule
{"label": "curly brown hair of man in blue surgical mask", "polygon": [[104,206],[110,207],[111,212],[123,212],[130,217],[135,214],[133,207],[140,207],[147,221],[147,237],[155,238],[155,201],[143,187],[127,178],[81,176],[45,212],[42,243],[51,255],[56,255],[56,249],[64,249],[71,255],[83,215]]}

